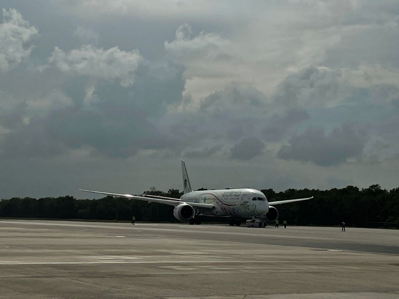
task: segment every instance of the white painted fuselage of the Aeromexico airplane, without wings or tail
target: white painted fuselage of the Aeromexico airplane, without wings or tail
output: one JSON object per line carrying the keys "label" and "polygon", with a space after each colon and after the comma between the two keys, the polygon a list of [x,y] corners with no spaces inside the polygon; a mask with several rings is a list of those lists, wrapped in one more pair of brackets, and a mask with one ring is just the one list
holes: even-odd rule
{"label": "white painted fuselage of the Aeromexico airplane, without wings or tail", "polygon": [[206,203],[215,206],[211,211],[204,211],[207,216],[263,216],[269,211],[265,195],[255,189],[221,189],[192,191],[180,197],[187,203]]}

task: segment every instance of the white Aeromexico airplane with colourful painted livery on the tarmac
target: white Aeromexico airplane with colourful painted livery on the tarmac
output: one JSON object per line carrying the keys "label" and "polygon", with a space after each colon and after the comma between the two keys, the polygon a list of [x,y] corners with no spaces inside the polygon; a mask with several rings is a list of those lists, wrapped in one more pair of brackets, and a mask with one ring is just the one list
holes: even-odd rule
{"label": "white Aeromexico airplane with colourful painted livery on the tarmac", "polygon": [[241,225],[241,217],[253,218],[265,217],[267,221],[274,222],[279,218],[279,211],[274,207],[284,203],[305,201],[313,197],[273,201],[269,205],[266,196],[259,190],[251,188],[219,189],[192,191],[188,179],[186,163],[182,160],[183,195],[180,199],[171,197],[143,194],[141,196],[131,194],[119,194],[79,189],[85,192],[99,193],[128,199],[138,199],[148,203],[163,203],[174,206],[173,215],[181,221],[190,224],[201,224],[199,215],[229,217],[229,225]]}

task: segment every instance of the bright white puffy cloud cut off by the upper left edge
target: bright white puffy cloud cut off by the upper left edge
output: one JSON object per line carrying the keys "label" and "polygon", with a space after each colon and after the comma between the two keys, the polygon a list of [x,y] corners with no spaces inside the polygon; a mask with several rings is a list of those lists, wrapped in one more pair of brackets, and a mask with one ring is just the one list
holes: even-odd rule
{"label": "bright white puffy cloud cut off by the upper left edge", "polygon": [[3,8],[3,23],[0,24],[0,71],[5,73],[14,69],[29,57],[33,45],[27,44],[38,35],[38,30],[22,18],[15,9]]}

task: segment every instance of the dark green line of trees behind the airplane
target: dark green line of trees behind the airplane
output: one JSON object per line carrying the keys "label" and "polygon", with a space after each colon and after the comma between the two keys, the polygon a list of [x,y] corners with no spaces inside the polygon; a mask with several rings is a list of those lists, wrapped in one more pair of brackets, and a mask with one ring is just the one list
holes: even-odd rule
{"label": "dark green line of trees behind the airplane", "polygon": [[[399,188],[390,191],[379,185],[365,189],[348,186],[342,189],[288,189],[276,193],[273,189],[261,190],[270,205],[273,201],[313,196],[314,199],[298,203],[278,205],[279,219],[288,225],[339,225],[398,228]],[[148,195],[180,198],[177,189],[168,192],[152,187]],[[71,196],[34,199],[11,198],[0,201],[0,217],[91,219],[177,222],[174,207],[158,203],[147,203],[136,199],[107,196],[101,199],[75,199]],[[203,217],[203,221],[227,222],[225,218]]]}

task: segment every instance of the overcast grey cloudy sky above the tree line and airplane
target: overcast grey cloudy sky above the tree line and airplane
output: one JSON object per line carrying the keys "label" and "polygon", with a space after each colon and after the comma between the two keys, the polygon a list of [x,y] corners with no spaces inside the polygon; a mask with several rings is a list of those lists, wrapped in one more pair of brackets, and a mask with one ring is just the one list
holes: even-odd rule
{"label": "overcast grey cloudy sky above the tree line and airplane", "polygon": [[397,0],[0,4],[0,199],[399,187]]}

